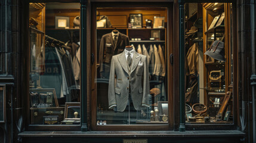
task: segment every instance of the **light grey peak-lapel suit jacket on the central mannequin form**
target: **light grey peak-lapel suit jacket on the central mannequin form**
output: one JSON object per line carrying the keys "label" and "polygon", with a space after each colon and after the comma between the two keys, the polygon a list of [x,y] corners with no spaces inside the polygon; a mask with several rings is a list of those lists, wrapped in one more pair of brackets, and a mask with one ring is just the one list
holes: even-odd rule
{"label": "light grey peak-lapel suit jacket on the central mannequin form", "polygon": [[[115,82],[116,76],[116,82]],[[116,111],[124,111],[129,97],[129,81],[131,82],[131,98],[134,108],[149,107],[149,66],[145,55],[134,52],[131,68],[128,68],[125,52],[112,57],[109,77],[109,107]]]}

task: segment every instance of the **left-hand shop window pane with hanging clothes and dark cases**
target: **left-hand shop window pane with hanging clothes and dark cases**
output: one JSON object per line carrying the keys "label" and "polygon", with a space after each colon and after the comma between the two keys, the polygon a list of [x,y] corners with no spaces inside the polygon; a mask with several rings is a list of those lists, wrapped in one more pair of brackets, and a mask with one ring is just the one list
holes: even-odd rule
{"label": "left-hand shop window pane with hanging clothes and dark cases", "polygon": [[29,4],[31,125],[80,125],[79,3]]}

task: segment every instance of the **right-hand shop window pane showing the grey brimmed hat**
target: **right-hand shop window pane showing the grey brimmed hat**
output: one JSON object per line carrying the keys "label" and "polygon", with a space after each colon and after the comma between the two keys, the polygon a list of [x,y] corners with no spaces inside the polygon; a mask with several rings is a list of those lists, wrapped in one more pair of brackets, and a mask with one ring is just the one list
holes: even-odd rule
{"label": "right-hand shop window pane showing the grey brimmed hat", "polygon": [[232,4],[184,8],[186,124],[233,123]]}

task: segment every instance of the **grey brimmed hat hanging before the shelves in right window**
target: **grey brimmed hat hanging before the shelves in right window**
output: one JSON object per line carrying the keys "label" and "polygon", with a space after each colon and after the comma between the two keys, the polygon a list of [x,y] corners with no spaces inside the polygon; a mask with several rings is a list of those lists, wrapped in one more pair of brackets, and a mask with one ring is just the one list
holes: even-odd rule
{"label": "grey brimmed hat hanging before the shelves in right window", "polygon": [[226,61],[224,42],[214,41],[211,47],[205,52],[205,55],[209,55],[209,57],[219,61]]}

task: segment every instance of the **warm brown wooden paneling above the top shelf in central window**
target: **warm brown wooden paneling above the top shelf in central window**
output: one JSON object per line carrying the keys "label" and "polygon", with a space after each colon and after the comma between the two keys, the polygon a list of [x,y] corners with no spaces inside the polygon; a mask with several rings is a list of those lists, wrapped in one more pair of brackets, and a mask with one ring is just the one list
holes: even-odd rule
{"label": "warm brown wooden paneling above the top shelf in central window", "polygon": [[[165,17],[167,22],[167,9],[166,8],[97,8],[100,15],[107,15],[113,27],[125,28],[128,27],[129,14],[142,14],[143,27],[146,26],[146,19],[154,21],[154,17]],[[97,19],[100,17],[97,16]]]}

